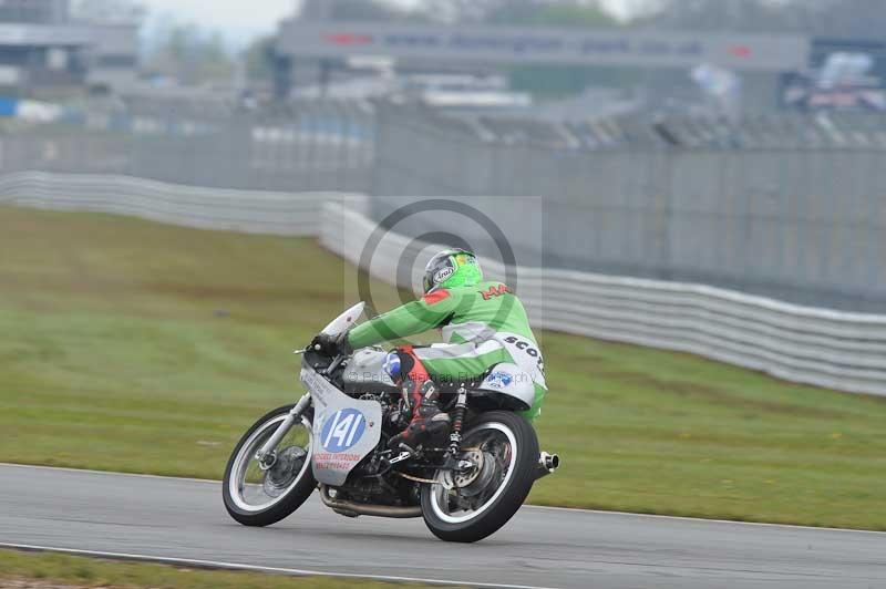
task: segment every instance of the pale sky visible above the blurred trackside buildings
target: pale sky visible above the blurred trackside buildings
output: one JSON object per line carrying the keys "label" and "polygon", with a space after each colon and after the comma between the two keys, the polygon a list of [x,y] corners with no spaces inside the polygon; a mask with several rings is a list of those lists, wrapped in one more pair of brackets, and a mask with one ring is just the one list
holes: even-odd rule
{"label": "pale sky visible above the blurred trackside buildings", "polygon": [[[148,27],[164,17],[194,22],[205,29],[220,30],[234,44],[241,46],[250,38],[272,32],[277,22],[295,13],[299,0],[140,0],[148,9]],[[412,4],[420,0],[396,0]],[[605,0],[617,13],[632,0]],[[212,7],[212,8],[209,8]]]}

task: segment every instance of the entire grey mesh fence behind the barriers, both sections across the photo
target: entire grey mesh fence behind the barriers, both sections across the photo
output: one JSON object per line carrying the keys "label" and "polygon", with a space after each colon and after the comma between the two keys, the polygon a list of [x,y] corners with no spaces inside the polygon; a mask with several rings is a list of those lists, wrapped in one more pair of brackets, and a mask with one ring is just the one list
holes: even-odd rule
{"label": "entire grey mesh fence behind the barriers, both sections across the photo", "polygon": [[[377,219],[394,206],[385,197],[494,197],[481,208],[534,236],[514,238],[533,264],[886,312],[882,115],[550,123],[364,101],[132,99],[70,118],[0,133],[0,173],[361,192]],[[442,223],[429,214],[410,230]]]}

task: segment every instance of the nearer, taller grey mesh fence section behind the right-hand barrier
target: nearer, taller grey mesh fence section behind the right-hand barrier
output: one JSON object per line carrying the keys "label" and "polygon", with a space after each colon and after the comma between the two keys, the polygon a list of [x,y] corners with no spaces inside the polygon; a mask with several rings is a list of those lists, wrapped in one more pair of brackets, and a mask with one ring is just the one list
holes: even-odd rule
{"label": "nearer, taller grey mesh fence section behind the right-hand barrier", "polygon": [[373,194],[511,196],[513,207],[542,196],[546,267],[886,311],[886,117],[583,127],[379,116]]}

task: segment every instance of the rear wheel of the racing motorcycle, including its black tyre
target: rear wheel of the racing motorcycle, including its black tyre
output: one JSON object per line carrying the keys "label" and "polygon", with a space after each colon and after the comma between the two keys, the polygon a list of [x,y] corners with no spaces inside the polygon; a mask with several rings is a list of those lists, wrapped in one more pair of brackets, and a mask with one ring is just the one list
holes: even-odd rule
{"label": "rear wheel of the racing motorcycle, including its black tyre", "polygon": [[535,482],[538,438],[529,423],[507,411],[491,411],[462,435],[468,472],[439,471],[422,486],[422,515],[442,540],[473,542],[497,531],[517,513]]}

